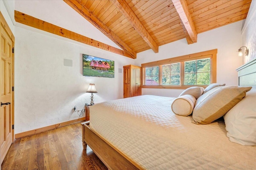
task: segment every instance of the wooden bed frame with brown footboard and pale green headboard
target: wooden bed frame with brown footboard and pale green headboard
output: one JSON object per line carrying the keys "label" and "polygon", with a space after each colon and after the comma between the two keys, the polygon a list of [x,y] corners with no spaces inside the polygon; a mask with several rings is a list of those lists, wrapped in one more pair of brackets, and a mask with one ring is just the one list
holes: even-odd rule
{"label": "wooden bed frame with brown footboard and pale green headboard", "polygon": [[[256,59],[242,65],[236,70],[238,71],[239,86],[256,86]],[[86,113],[86,117],[88,119],[90,117],[89,110]],[[98,133],[90,129],[89,121],[82,123],[82,142],[84,149],[89,145],[93,152],[110,170],[143,169]]]}

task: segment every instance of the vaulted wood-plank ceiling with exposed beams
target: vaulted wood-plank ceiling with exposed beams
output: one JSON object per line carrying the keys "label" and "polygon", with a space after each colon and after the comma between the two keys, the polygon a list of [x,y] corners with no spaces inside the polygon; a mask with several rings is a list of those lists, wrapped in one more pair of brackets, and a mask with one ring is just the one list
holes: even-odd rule
{"label": "vaulted wood-plank ceiling with exposed beams", "polygon": [[64,0],[133,59],[179,39],[196,43],[198,33],[243,20],[251,1]]}

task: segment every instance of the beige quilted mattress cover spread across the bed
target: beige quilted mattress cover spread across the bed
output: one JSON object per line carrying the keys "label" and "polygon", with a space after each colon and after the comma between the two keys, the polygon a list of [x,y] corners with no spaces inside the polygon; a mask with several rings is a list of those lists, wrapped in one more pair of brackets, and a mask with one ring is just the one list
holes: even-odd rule
{"label": "beige quilted mattress cover spread across the bed", "polygon": [[90,127],[148,170],[256,169],[256,147],[229,141],[224,121],[196,125],[175,98],[136,96],[90,107]]}

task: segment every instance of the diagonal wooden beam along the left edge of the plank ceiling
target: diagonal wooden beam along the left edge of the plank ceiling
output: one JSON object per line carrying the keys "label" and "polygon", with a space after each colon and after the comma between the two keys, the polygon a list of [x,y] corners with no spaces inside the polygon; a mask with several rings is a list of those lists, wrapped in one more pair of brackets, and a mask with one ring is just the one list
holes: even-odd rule
{"label": "diagonal wooden beam along the left edge of the plank ceiling", "polygon": [[64,0],[71,8],[88,20],[92,25],[98,28],[104,35],[114,41],[121,49],[128,53],[132,58],[136,59],[136,53],[118,37],[114,32],[111,31],[102,21],[100,21],[92,12],[85,8],[80,2],[76,0]]}

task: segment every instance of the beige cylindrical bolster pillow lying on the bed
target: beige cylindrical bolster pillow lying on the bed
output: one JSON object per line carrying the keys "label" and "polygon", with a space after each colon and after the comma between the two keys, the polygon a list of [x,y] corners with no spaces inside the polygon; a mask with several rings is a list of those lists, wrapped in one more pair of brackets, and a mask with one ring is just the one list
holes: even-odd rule
{"label": "beige cylindrical bolster pillow lying on the bed", "polygon": [[195,102],[194,96],[185,94],[172,102],[172,111],[177,115],[188,116],[192,113]]}

